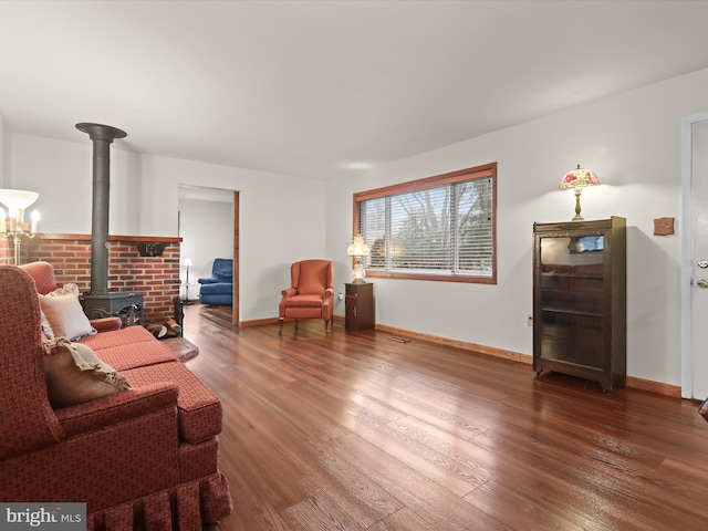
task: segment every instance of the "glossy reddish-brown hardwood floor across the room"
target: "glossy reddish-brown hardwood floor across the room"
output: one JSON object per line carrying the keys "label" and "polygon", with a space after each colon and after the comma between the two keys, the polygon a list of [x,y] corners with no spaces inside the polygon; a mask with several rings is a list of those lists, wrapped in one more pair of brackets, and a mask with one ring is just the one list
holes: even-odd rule
{"label": "glossy reddish-brown hardwood floor across the room", "polygon": [[708,528],[697,403],[222,306],[187,306],[185,337],[223,404],[220,531]]}

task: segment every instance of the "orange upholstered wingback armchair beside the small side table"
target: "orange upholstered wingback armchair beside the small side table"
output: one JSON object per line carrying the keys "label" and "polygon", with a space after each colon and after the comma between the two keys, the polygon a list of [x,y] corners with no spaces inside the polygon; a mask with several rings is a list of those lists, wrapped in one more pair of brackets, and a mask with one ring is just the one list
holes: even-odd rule
{"label": "orange upholstered wingback armchair beside the small side table", "polygon": [[299,319],[322,319],[327,334],[334,310],[334,263],[329,260],[294,262],[290,267],[290,284],[281,292],[278,333],[283,333],[285,319],[295,320],[295,330]]}

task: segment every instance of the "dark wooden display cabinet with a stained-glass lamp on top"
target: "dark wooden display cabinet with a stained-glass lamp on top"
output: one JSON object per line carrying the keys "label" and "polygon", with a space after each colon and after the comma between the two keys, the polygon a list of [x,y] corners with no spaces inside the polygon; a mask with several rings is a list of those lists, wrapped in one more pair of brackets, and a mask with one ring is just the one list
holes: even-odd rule
{"label": "dark wooden display cabinet with a stained-glass lamp on top", "polygon": [[533,225],[533,369],[626,381],[626,221]]}

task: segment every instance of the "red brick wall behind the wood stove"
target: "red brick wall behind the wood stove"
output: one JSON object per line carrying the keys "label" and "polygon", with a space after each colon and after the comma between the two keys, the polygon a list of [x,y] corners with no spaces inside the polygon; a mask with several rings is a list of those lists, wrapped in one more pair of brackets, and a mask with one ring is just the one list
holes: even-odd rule
{"label": "red brick wall behind the wood stove", "polygon": [[[162,257],[140,257],[138,241],[162,241]],[[145,322],[164,323],[175,315],[179,296],[179,248],[181,238],[111,237],[108,291],[143,293]],[[45,260],[54,267],[56,284],[75,282],[86,293],[91,289],[91,237],[43,235],[21,247],[22,262]]]}

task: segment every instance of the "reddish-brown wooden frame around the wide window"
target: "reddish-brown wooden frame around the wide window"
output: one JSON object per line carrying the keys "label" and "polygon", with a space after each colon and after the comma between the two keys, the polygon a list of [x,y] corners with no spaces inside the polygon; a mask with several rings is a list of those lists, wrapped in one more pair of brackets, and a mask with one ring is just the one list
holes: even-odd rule
{"label": "reddish-brown wooden frame around the wide window", "polygon": [[[450,171],[448,174],[436,175],[433,177],[425,177],[423,179],[410,180],[407,183],[400,183],[397,185],[385,186],[382,188],[375,188],[372,190],[358,191],[353,195],[353,236],[358,233],[360,225],[360,208],[358,204],[369,199],[378,199],[382,197],[413,192],[431,188],[435,186],[450,185],[455,183],[461,183],[466,180],[473,180],[479,178],[491,177],[491,209],[492,209],[492,253],[491,253],[491,275],[479,277],[473,274],[462,273],[425,273],[425,272],[404,272],[396,271],[382,271],[378,269],[366,269],[366,277],[371,278],[384,278],[384,279],[407,279],[407,280],[433,280],[441,282],[466,282],[478,284],[496,284],[497,283],[497,163],[485,164],[481,166],[475,166],[471,168],[459,169]],[[352,259],[354,264],[355,259]]]}

